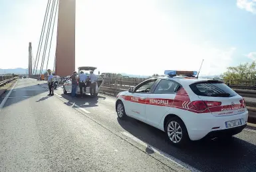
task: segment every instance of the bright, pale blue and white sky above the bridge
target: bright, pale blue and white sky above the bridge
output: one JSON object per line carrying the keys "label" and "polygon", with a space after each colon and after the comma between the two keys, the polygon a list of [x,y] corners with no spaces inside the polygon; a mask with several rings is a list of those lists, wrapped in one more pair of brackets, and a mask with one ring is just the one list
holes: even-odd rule
{"label": "bright, pale blue and white sky above the bridge", "polygon": [[[47,0],[0,1],[0,68],[27,68]],[[76,67],[100,72],[221,74],[256,60],[256,0],[76,0]],[[56,30],[50,68],[56,44]]]}

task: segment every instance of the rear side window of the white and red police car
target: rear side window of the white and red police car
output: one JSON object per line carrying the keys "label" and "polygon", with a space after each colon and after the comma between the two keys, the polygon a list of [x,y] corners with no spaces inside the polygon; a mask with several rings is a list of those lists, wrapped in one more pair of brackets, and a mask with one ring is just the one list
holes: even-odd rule
{"label": "rear side window of the white and red police car", "polygon": [[181,87],[180,84],[172,80],[161,80],[158,86],[156,87],[156,90],[154,91],[154,93],[159,93],[159,94],[175,93],[177,92],[177,90],[180,89],[180,87]]}

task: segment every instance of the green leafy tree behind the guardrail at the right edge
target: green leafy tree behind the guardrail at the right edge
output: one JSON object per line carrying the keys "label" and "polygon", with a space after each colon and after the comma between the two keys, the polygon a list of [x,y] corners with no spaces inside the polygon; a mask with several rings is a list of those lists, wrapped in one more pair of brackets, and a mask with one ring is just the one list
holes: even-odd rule
{"label": "green leafy tree behind the guardrail at the right edge", "polygon": [[228,67],[227,72],[221,75],[226,82],[239,82],[241,80],[256,80],[256,62],[240,64],[235,67]]}

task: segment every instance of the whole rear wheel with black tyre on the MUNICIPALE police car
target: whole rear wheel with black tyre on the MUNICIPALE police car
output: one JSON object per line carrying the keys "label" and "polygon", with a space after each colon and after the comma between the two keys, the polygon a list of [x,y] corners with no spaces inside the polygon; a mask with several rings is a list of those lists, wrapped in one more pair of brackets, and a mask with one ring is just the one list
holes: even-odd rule
{"label": "whole rear wheel with black tyre on the MUNICIPALE police car", "polygon": [[173,145],[184,146],[190,141],[188,130],[182,120],[178,117],[173,117],[166,122],[166,136],[168,141]]}

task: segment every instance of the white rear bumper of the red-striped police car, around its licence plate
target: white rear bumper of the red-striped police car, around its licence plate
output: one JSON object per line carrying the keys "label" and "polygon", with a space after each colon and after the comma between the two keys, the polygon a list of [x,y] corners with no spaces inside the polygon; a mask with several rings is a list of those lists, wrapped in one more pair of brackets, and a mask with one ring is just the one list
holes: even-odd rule
{"label": "white rear bumper of the red-striped police car, around its licence plate", "polygon": [[[227,128],[225,122],[232,120],[241,119],[242,125],[235,126],[232,128]],[[211,114],[204,114],[197,116],[193,119],[193,123],[187,122],[186,126],[188,129],[188,134],[191,140],[199,140],[203,137],[217,137],[217,135],[222,135],[225,132],[234,133],[233,135],[241,132],[243,128],[247,125],[248,111],[246,110],[242,114],[237,114],[233,116],[213,116]]]}

